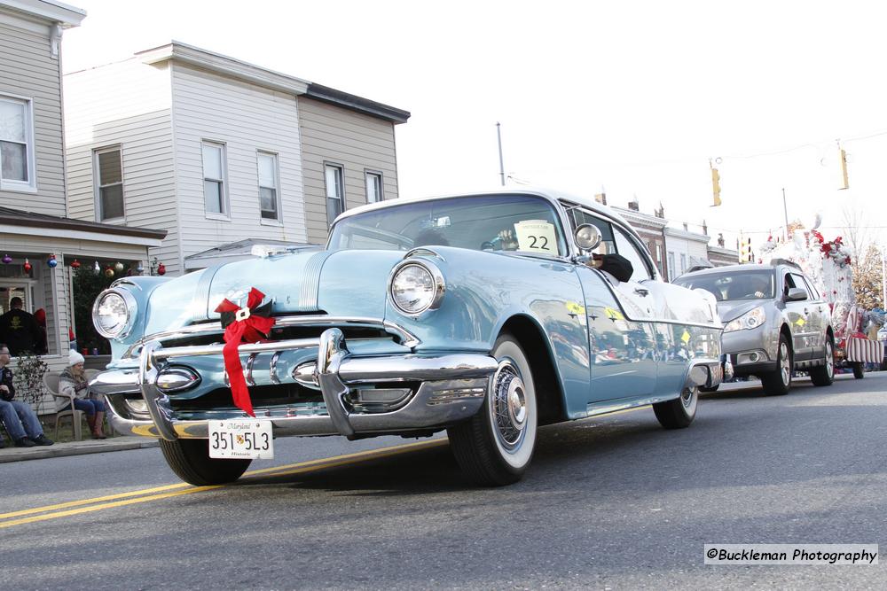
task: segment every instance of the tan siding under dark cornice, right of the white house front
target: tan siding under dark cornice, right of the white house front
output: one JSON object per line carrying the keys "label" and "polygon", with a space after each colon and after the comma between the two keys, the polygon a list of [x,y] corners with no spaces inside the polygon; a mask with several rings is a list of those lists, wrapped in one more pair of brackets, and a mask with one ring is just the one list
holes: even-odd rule
{"label": "tan siding under dark cornice, right of the white house front", "polygon": [[366,203],[365,171],[381,172],[386,199],[397,197],[394,123],[299,97],[308,240],[326,243],[324,162],[344,168],[346,208]]}

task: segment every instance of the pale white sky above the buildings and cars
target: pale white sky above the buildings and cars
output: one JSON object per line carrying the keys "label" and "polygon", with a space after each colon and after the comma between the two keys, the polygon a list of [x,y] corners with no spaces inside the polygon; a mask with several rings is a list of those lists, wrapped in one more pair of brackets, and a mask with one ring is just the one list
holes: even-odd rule
{"label": "pale white sky above the buildings and cars", "polygon": [[850,207],[887,242],[881,3],[66,1],[66,71],[175,39],[410,111],[402,197],[497,186],[499,121],[514,186],[661,202],[728,246],[781,230],[785,188],[789,221],[831,239]]}

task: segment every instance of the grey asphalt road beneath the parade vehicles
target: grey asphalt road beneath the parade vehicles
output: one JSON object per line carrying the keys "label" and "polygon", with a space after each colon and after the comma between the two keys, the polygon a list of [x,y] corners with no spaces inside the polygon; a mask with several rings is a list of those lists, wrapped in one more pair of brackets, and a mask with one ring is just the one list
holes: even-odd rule
{"label": "grey asphalt road beneath the parade vehicles", "polygon": [[443,440],[366,451],[404,442],[278,439],[212,488],[157,449],[3,464],[0,588],[884,586],[883,564],[705,565],[703,544],[887,548],[887,373],[716,393],[675,432],[650,408],[546,427],[498,489]]}

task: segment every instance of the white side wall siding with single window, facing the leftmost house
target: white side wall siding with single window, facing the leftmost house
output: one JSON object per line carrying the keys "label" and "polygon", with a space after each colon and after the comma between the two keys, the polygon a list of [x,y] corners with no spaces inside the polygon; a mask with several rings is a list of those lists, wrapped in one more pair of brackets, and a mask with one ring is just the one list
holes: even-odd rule
{"label": "white side wall siding with single window, facing the leftmost house", "polygon": [[100,222],[93,151],[121,146],[128,226],[165,229],[150,250],[177,270],[178,225],[169,67],[133,58],[65,76],[68,216]]}

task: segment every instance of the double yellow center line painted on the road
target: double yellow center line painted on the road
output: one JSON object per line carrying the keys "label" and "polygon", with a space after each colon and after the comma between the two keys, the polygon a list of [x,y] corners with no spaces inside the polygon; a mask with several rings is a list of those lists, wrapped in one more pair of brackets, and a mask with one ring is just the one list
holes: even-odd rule
{"label": "double yellow center line painted on the road", "polygon": [[[347,455],[338,455],[331,458],[321,458],[319,460],[310,460],[308,462],[300,462],[300,463],[291,463],[285,464],[282,466],[274,466],[272,468],[264,468],[262,470],[251,470],[244,474],[245,477],[248,476],[256,476],[256,475],[270,475],[270,476],[281,476],[281,475],[292,475],[299,474],[311,471],[325,470],[326,468],[334,468],[338,466],[347,465],[349,463],[357,463],[361,460],[373,460],[386,458],[393,455],[405,454],[416,449],[422,449],[426,447],[439,447],[443,444],[448,443],[446,439],[433,439],[431,441],[418,441],[415,443],[408,443],[402,446],[393,446],[393,447],[381,447],[380,449],[370,449],[362,452],[356,452],[354,454]],[[192,494],[192,493],[200,493],[203,491],[213,490],[216,488],[221,488],[223,485],[215,485],[215,486],[191,486],[189,484],[180,483],[175,485],[167,485],[167,486],[157,486],[154,488],[145,488],[142,490],[131,491],[130,493],[120,493],[120,494],[108,494],[106,496],[96,497],[92,499],[82,499],[81,501],[70,501],[70,502],[62,502],[55,505],[46,505],[43,507],[36,507],[34,509],[22,509],[20,511],[12,511],[11,513],[0,513],[0,519],[10,519],[10,521],[4,521],[0,523],[0,529],[4,527],[12,527],[12,525],[22,525],[28,523],[34,523],[36,521],[44,521],[47,519],[56,519],[59,517],[69,517],[72,515],[78,515],[81,513],[89,513],[90,511],[98,511],[100,509],[113,509],[115,507],[124,507],[126,505],[132,505],[138,502],[148,502],[148,501],[159,501],[161,499],[169,499],[171,497],[180,496],[182,494]],[[177,488],[184,488],[185,490],[175,491]],[[165,492],[161,494],[151,494],[151,493],[160,493],[161,491],[175,491],[175,492]],[[136,499],[131,499],[127,497],[138,497]],[[117,501],[118,499],[125,499],[122,501]],[[112,502],[106,502],[112,501]],[[94,504],[101,503],[101,504]],[[83,505],[91,505],[90,507],[83,507]],[[74,507],[79,507],[79,509],[71,509]],[[67,510],[58,510],[58,509],[67,509]],[[35,513],[43,513],[43,515],[34,515]],[[25,515],[31,515],[33,517],[24,517],[20,519],[12,519],[12,517],[21,517]]]}

